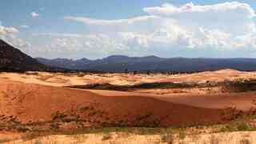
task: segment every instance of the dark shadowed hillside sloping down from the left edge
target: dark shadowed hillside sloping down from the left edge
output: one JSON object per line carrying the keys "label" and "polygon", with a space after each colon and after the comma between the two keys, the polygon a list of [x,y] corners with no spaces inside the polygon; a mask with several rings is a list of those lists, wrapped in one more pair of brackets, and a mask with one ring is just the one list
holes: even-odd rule
{"label": "dark shadowed hillside sloping down from the left edge", "polygon": [[58,68],[46,66],[0,39],[0,71],[24,72],[30,70],[54,71]]}

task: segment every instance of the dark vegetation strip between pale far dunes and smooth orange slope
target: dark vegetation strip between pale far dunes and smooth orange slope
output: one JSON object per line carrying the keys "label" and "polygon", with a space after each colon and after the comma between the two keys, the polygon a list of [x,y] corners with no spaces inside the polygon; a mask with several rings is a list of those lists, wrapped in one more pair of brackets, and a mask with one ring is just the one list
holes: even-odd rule
{"label": "dark vegetation strip between pale far dunes and smooth orange slope", "polygon": [[88,85],[78,85],[78,86],[66,86],[75,89],[87,89],[87,90],[146,90],[146,89],[189,89],[189,88],[207,88],[207,87],[216,87],[221,86],[222,92],[247,92],[256,90],[256,80],[236,80],[225,81],[225,82],[205,82],[205,83],[196,83],[196,82],[149,82],[149,83],[140,83],[133,86],[118,86],[112,85],[110,83],[93,83]]}

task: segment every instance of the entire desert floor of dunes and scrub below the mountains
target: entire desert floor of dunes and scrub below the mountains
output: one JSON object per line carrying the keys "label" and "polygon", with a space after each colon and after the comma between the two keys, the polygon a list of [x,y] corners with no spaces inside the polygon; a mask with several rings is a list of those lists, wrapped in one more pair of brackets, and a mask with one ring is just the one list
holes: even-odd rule
{"label": "entire desert floor of dunes and scrub below the mountains", "polygon": [[238,70],[1,73],[0,142],[254,143],[255,90]]}

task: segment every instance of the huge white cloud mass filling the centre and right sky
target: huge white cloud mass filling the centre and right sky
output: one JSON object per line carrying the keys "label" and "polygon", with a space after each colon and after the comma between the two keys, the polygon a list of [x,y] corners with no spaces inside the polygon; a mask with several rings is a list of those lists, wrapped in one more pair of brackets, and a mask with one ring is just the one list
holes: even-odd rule
{"label": "huge white cloud mass filling the centre and right sky", "polygon": [[[90,34],[37,34],[52,38],[46,50],[94,54],[146,55],[164,57],[244,57],[256,54],[254,9],[242,2],[182,6],[166,3],[146,7],[135,18],[95,19],[65,17],[80,22]],[[79,57],[79,54],[77,56]],[[84,55],[87,54],[87,55]],[[223,55],[221,55],[223,54]]]}

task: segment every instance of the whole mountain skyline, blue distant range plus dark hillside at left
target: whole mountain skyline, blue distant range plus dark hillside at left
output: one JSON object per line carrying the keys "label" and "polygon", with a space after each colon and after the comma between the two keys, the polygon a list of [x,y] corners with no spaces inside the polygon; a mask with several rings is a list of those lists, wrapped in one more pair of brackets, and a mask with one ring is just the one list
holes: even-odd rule
{"label": "whole mountain skyline, blue distant range plus dark hillside at left", "polygon": [[156,56],[127,57],[123,55],[112,55],[97,60],[31,58],[0,39],[0,71],[198,72],[221,69],[256,70],[256,59],[158,58]]}

